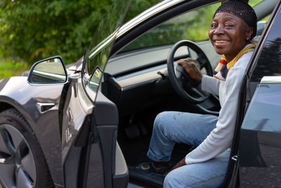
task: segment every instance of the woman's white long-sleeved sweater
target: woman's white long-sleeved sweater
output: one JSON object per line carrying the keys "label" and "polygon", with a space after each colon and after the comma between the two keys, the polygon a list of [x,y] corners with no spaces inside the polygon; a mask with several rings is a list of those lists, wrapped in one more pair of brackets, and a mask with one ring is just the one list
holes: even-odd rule
{"label": "woman's white long-sleeved sweater", "polygon": [[226,81],[207,75],[202,77],[202,90],[219,96],[221,111],[218,115],[216,128],[196,149],[185,156],[185,163],[208,161],[226,151],[230,146],[235,130],[240,85],[251,54],[253,54],[252,51],[244,54],[230,68]]}

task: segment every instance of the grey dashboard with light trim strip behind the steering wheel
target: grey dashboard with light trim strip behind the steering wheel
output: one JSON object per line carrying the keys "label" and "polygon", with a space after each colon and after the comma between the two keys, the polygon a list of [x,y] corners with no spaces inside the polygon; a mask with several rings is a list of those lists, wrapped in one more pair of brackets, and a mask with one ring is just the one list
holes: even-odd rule
{"label": "grey dashboard with light trim strip behind the steering wheel", "polygon": [[[216,54],[209,40],[197,42],[197,45],[207,55],[214,69],[221,56]],[[105,73],[112,75],[117,84],[122,88],[146,81],[157,80],[162,77],[159,73],[164,74],[166,72],[166,58],[171,46],[157,46],[117,54],[108,61]],[[195,52],[188,51],[185,46],[178,49],[175,56],[176,59],[186,58],[188,56],[196,58]]]}

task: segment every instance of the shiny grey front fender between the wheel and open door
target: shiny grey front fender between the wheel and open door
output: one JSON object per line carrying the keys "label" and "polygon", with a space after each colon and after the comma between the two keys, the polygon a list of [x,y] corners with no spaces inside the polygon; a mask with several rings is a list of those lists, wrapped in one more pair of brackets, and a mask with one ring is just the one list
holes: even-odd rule
{"label": "shiny grey front fender between the wheel and open door", "polygon": [[[58,108],[62,89],[63,84],[32,86],[27,83],[27,77],[11,77],[0,82],[0,103],[9,104],[24,115],[46,156],[53,182],[60,186],[63,168]],[[37,103],[55,105],[41,112]]]}

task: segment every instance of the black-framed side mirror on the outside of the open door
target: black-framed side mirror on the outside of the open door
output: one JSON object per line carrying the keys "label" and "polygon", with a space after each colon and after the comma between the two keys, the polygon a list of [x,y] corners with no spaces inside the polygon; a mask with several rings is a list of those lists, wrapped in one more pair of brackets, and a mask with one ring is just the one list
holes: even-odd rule
{"label": "black-framed side mirror on the outside of the open door", "polygon": [[27,81],[30,84],[64,84],[67,82],[67,71],[63,58],[54,56],[37,61],[32,65]]}

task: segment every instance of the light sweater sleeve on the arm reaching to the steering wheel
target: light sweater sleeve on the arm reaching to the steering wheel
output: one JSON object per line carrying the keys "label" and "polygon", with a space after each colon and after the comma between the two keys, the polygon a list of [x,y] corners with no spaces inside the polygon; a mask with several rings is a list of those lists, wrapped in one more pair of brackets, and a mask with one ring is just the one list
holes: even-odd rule
{"label": "light sweater sleeve on the arm reaching to the steering wheel", "polygon": [[218,96],[218,90],[220,84],[221,84],[221,80],[216,79],[216,77],[203,75],[201,89],[204,92],[208,92],[210,94],[215,94]]}

